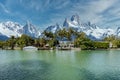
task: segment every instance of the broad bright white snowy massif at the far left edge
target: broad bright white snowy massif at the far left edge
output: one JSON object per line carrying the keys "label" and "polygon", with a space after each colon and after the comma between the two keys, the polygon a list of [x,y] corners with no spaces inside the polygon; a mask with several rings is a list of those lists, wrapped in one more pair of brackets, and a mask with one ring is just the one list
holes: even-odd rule
{"label": "broad bright white snowy massif at the far left edge", "polygon": [[18,23],[7,21],[0,23],[0,33],[7,37],[13,36],[21,36],[22,34],[22,26]]}

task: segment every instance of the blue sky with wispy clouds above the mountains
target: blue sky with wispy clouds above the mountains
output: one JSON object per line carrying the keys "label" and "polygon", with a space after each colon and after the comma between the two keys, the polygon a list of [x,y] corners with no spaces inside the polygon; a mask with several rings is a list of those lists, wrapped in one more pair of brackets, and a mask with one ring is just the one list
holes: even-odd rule
{"label": "blue sky with wispy clouds above the mountains", "polygon": [[81,22],[91,21],[102,28],[120,26],[120,0],[0,0],[0,21],[25,24],[27,20],[45,29],[61,24],[73,14]]}

